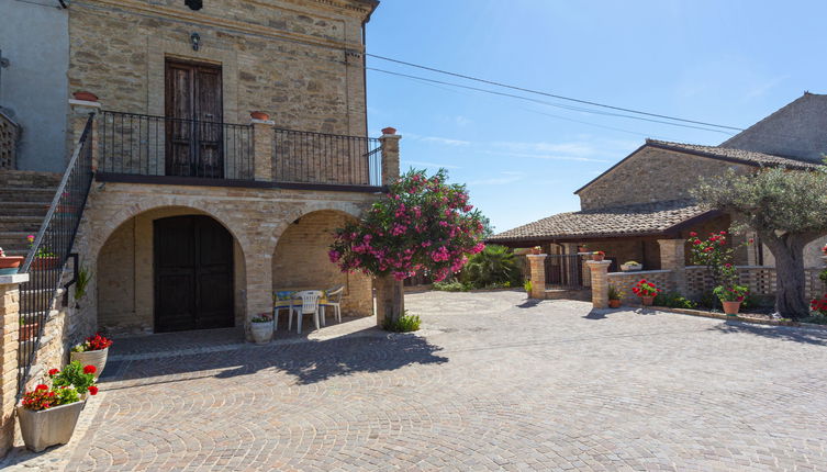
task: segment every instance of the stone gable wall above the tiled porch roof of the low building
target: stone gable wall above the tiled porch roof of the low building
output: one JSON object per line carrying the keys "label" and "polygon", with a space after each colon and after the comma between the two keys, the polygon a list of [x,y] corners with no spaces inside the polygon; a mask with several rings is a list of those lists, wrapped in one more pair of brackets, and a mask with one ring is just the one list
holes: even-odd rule
{"label": "stone gable wall above the tiled porch roof of the low building", "polygon": [[605,206],[685,199],[702,177],[719,176],[727,169],[755,168],[706,157],[645,147],[626,161],[580,190],[580,206]]}

